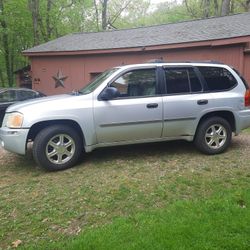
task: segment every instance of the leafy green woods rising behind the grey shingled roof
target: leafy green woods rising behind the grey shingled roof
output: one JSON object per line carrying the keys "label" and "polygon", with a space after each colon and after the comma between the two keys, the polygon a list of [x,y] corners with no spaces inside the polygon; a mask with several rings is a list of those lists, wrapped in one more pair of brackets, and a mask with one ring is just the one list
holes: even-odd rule
{"label": "leafy green woods rising behind the grey shingled roof", "polygon": [[27,65],[22,51],[65,34],[173,23],[250,11],[250,0],[0,0],[0,86]]}

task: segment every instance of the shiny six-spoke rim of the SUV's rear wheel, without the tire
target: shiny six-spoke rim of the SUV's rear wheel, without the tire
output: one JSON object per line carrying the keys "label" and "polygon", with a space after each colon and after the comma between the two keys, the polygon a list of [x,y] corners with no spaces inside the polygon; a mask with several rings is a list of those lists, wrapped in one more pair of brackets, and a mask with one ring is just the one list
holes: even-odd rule
{"label": "shiny six-spoke rim of the SUV's rear wheel, without the tire", "polygon": [[211,149],[221,148],[227,140],[227,131],[221,124],[213,124],[205,134],[205,142]]}

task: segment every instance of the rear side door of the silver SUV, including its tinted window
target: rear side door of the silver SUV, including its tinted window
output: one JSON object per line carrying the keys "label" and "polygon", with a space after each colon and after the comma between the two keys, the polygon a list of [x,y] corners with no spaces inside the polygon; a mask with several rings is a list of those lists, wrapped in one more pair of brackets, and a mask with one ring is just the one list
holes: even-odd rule
{"label": "rear side door of the silver SUV, including its tinted window", "polygon": [[192,136],[199,117],[211,106],[212,96],[203,92],[196,68],[165,67],[164,76],[163,137]]}

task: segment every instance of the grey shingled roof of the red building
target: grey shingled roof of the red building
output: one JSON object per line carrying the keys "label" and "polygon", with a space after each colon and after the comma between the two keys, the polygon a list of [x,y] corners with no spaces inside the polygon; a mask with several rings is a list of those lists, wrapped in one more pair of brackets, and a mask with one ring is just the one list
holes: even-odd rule
{"label": "grey shingled roof of the red building", "polygon": [[23,53],[124,49],[250,36],[250,12],[150,27],[69,34]]}

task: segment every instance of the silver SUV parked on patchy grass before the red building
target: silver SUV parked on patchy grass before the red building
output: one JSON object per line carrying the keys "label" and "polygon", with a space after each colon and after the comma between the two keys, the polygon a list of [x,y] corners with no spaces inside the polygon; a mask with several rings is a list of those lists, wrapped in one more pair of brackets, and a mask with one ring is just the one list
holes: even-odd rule
{"label": "silver SUV parked on patchy grass before the red building", "polygon": [[226,150],[250,126],[250,91],[220,63],[147,63],[105,71],[67,95],[10,106],[0,129],[6,150],[62,170],[98,147],[183,139],[206,154]]}

